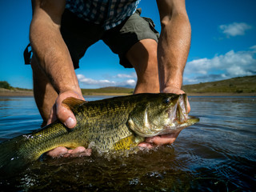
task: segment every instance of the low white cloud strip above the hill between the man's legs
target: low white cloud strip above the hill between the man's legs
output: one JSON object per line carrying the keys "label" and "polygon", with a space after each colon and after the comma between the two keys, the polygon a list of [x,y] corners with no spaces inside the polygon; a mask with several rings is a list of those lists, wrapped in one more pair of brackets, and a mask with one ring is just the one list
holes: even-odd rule
{"label": "low white cloud strip above the hill between the man's legs", "polygon": [[107,79],[95,80],[92,78],[86,78],[83,74],[77,74],[78,81],[82,83],[84,86],[97,86],[97,87],[104,87],[104,86],[127,86],[127,87],[134,87],[136,85],[136,81],[134,79],[128,79],[126,81],[117,82],[117,81],[110,81]]}

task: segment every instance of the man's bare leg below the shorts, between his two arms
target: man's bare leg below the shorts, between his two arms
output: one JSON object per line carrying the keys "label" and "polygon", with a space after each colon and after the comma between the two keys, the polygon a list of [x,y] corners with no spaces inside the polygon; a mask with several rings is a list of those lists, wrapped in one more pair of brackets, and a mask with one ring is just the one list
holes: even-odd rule
{"label": "man's bare leg below the shorts, between his two arms", "polygon": [[138,77],[134,94],[159,93],[157,46],[154,39],[143,39],[126,53]]}

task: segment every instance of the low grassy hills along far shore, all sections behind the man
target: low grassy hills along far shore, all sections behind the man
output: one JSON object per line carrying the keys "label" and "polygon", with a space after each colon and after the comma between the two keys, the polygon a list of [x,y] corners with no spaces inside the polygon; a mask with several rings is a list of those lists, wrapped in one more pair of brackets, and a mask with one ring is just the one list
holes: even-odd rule
{"label": "low grassy hills along far shore, all sections behind the man", "polygon": [[[241,94],[256,95],[256,75],[230,78],[218,82],[202,82],[182,86],[187,94]],[[108,86],[99,89],[82,89],[83,95],[124,95],[133,94],[134,89]],[[0,82],[0,95],[33,95],[32,90],[12,87],[8,82]]]}

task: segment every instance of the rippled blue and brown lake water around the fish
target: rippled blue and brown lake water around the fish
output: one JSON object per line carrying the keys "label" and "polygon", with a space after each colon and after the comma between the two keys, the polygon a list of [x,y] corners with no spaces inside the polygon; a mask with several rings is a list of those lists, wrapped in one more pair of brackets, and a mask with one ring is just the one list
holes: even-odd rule
{"label": "rippled blue and brown lake water around the fish", "polygon": [[[126,157],[38,160],[2,178],[0,190],[255,191],[256,98],[190,97],[190,106],[200,122],[171,146]],[[41,123],[34,98],[0,98],[0,142]]]}

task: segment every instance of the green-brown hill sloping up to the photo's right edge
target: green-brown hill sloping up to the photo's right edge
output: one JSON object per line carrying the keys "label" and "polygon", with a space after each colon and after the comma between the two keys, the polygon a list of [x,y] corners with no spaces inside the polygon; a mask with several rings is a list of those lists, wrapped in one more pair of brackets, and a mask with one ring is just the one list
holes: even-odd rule
{"label": "green-brown hill sloping up to the photo's right edge", "polygon": [[256,75],[182,86],[186,93],[256,93]]}

